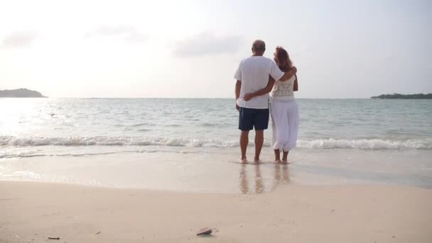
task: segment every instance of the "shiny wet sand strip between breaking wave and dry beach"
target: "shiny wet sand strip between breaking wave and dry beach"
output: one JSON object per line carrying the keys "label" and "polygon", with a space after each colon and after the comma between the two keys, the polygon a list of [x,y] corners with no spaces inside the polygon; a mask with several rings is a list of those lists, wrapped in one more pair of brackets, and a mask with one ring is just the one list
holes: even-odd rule
{"label": "shiny wet sand strip between breaking wave and dry beach", "polygon": [[[252,163],[239,164],[236,148],[208,148],[205,151],[190,148],[180,152],[176,148],[163,152],[152,152],[158,151],[157,148],[148,149],[143,153],[97,156],[5,158],[0,161],[0,180],[187,193],[263,193],[285,184],[379,184],[432,188],[432,151],[298,149],[291,155],[291,163],[284,166],[275,165],[272,151],[266,150],[261,154],[263,163],[255,166]],[[80,153],[92,150],[95,149]]]}

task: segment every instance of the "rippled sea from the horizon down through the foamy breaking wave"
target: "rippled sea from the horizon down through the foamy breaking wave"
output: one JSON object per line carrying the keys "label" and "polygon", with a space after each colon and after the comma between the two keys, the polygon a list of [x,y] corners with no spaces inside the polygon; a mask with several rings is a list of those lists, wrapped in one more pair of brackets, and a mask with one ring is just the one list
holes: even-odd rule
{"label": "rippled sea from the horizon down through the foamy breaking wave", "polygon": [[[432,149],[431,100],[298,99],[298,106],[300,148]],[[0,146],[6,151],[238,146],[232,99],[0,99],[0,110]]]}

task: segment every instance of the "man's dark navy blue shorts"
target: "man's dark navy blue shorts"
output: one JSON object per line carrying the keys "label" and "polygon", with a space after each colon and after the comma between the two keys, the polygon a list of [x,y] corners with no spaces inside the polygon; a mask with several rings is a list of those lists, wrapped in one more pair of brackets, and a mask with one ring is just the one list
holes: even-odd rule
{"label": "man's dark navy blue shorts", "polygon": [[265,130],[269,127],[269,109],[240,107],[239,129],[242,131]]}

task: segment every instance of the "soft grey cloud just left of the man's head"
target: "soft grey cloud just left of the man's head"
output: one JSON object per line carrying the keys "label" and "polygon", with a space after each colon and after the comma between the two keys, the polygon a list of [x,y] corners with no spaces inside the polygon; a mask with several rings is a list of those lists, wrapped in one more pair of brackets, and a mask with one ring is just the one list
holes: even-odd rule
{"label": "soft grey cloud just left of the man's head", "polygon": [[239,50],[242,38],[239,36],[215,36],[212,33],[200,33],[193,38],[178,41],[173,55],[180,58],[234,53]]}

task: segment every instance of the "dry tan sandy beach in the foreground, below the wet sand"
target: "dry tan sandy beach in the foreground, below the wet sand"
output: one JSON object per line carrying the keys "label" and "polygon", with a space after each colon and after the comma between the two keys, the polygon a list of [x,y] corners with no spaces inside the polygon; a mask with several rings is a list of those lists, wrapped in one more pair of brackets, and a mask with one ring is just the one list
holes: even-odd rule
{"label": "dry tan sandy beach in the foreground, below the wet sand", "polygon": [[[1,181],[0,191],[0,242],[432,241],[426,188],[284,185],[251,195]],[[214,233],[196,236],[202,227]]]}

